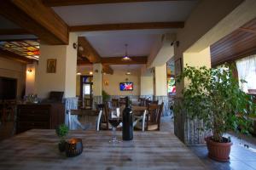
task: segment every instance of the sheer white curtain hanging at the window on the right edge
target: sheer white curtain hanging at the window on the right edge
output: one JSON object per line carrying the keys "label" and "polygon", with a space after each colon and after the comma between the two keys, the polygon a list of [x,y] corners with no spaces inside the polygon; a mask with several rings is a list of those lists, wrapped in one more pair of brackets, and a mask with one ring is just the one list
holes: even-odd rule
{"label": "sheer white curtain hanging at the window on the right edge", "polygon": [[248,89],[256,89],[256,55],[237,60],[236,68],[241,90],[248,93]]}

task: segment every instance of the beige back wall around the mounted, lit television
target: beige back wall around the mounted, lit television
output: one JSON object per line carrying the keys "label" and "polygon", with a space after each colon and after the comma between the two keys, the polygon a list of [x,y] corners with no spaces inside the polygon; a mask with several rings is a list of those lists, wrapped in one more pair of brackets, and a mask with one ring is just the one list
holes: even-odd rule
{"label": "beige back wall around the mounted, lit television", "polygon": [[[140,71],[131,71],[131,75],[126,76],[126,71],[113,70],[113,75],[103,75],[103,90],[110,95],[140,95]],[[120,91],[119,82],[133,82],[133,91]],[[108,86],[104,85],[108,81]]]}

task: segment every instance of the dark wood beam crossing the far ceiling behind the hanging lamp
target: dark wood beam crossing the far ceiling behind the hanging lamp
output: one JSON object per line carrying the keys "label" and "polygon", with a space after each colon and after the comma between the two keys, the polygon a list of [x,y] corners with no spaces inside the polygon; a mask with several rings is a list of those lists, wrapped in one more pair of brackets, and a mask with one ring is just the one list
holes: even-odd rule
{"label": "dark wood beam crossing the far ceiling behind the hanging lamp", "polygon": [[147,56],[131,57],[130,61],[122,60],[123,57],[103,57],[102,65],[145,65],[147,64]]}

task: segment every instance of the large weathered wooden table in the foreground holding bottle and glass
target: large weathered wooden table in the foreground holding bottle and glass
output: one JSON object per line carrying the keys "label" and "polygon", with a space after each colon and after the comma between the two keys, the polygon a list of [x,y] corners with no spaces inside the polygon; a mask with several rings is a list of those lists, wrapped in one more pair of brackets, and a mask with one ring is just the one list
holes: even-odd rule
{"label": "large weathered wooden table in the foreground holding bottle and glass", "polygon": [[[53,129],[32,129],[0,142],[0,169],[4,170],[130,170],[206,169],[173,133],[134,132],[131,141],[109,143],[110,131],[70,131],[67,139],[82,139],[81,155],[67,157],[58,150]],[[117,132],[121,139],[121,132]]]}

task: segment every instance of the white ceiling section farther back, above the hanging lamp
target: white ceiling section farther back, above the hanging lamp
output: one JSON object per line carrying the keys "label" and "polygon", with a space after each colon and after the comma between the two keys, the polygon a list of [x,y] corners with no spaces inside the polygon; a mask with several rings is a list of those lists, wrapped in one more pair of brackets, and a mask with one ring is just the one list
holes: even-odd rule
{"label": "white ceiling section farther back, above the hanging lamp", "polygon": [[127,53],[130,56],[148,56],[155,41],[169,30],[101,31],[81,34],[102,57],[117,57]]}

